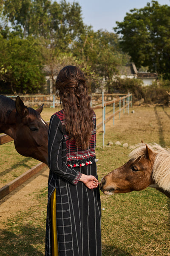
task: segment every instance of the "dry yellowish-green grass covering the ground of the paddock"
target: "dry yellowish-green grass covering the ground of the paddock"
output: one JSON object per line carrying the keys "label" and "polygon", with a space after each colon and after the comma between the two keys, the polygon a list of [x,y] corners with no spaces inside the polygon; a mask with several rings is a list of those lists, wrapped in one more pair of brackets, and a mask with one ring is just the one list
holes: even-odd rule
{"label": "dry yellowish-green grass covering the ground of the paddock", "polygon": [[[135,113],[131,113],[132,109]],[[130,146],[143,140],[170,147],[170,108],[150,106],[132,109],[129,115],[125,111],[120,120],[116,116],[114,126],[113,120],[106,125],[104,149],[102,133],[97,133],[99,180],[128,160],[130,149],[115,145],[116,141]],[[96,110],[97,117],[101,116],[100,111]],[[53,112],[44,109],[42,117],[47,121]],[[113,145],[108,146],[109,141]],[[0,157],[1,180],[6,180],[3,184],[9,182],[12,175],[13,180],[19,169],[25,172],[38,163],[16,154],[13,143],[0,146]],[[12,174],[14,170],[16,173]],[[33,200],[32,207],[3,222],[0,256],[45,255],[47,187],[35,188]],[[170,256],[170,199],[165,195],[152,188],[112,196],[101,192],[101,202],[103,256]]]}

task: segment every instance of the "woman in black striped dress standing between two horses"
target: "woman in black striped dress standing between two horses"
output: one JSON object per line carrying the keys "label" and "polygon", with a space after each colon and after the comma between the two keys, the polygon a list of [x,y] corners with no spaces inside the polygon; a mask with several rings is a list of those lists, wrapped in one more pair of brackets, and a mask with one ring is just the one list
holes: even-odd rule
{"label": "woman in black striped dress standing between two horses", "polygon": [[46,256],[100,256],[101,205],[96,173],[96,116],[84,74],[66,66],[56,94],[63,109],[48,131]]}

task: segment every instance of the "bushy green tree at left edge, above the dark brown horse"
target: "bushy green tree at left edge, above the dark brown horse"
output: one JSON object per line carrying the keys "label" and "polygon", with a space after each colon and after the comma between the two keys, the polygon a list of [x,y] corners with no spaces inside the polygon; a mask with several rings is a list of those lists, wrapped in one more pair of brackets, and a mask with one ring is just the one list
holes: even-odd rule
{"label": "bushy green tree at left edge, above the dark brown horse", "polygon": [[45,83],[39,44],[34,38],[0,40],[1,93],[38,92]]}

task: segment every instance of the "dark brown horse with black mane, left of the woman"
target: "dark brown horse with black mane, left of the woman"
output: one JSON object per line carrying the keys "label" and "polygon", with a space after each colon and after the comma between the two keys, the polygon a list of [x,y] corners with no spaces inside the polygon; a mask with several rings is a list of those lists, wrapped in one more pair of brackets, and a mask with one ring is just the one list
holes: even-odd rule
{"label": "dark brown horse with black mane, left of the woman", "polygon": [[34,110],[19,96],[14,102],[0,95],[0,133],[14,139],[19,154],[48,164],[48,124],[40,116],[43,105]]}

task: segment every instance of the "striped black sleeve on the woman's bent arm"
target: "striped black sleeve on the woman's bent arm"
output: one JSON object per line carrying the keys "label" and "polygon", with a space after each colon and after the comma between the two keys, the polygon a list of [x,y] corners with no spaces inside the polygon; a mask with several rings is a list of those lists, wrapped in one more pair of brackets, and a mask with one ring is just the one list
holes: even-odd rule
{"label": "striped black sleeve on the woman's bent arm", "polygon": [[60,119],[53,115],[48,131],[48,163],[52,172],[76,185],[81,173],[66,164],[66,145]]}

